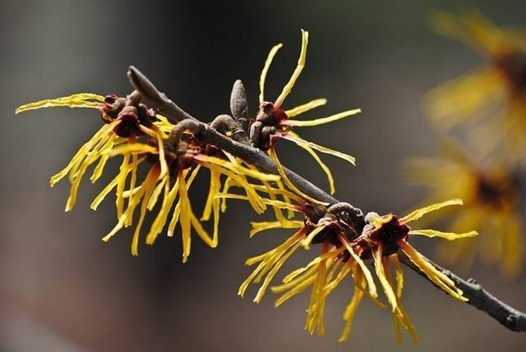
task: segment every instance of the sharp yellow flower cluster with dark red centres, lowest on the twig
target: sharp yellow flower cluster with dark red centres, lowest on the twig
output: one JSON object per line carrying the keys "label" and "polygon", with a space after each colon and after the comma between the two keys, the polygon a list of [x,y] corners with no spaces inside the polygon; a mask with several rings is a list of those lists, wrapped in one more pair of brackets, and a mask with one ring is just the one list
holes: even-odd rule
{"label": "sharp yellow flower cluster with dark red centres, lowest on the twig", "polygon": [[[381,217],[376,213],[369,213],[365,217],[365,226],[362,224],[363,231],[356,233],[352,231],[349,224],[354,224],[358,220],[349,215],[349,212],[332,211],[331,209],[334,208],[306,203],[300,210],[304,213],[304,221],[289,224],[287,228],[295,227],[297,231],[287,241],[267,253],[246,260],[246,265],[258,264],[258,266],[239,287],[239,296],[244,296],[249,284],[258,284],[263,280],[254,298],[254,301],[259,303],[280,267],[296,250],[301,246],[309,248],[312,243],[321,243],[320,255],[305,267],[288,274],[282,280],[282,284],[271,287],[274,293],[280,293],[275,306],[281,305],[306,289],[311,289],[305,329],[310,334],[314,331],[323,334],[325,331],[323,310],[326,298],[346,277],[350,277],[354,283],[354,293],[343,315],[345,328],[340,337],[340,341],[345,341],[349,337],[354,313],[363,296],[368,296],[376,305],[385,307],[385,304],[378,301],[376,283],[366,265],[366,260],[373,260],[376,278],[394,315],[396,340],[400,342],[400,327],[405,327],[416,343],[417,333],[401,303],[403,272],[398,253],[409,257],[414,265],[450,296],[460,301],[467,301],[452,280],[439,272],[424,255],[408,243],[410,236],[441,237],[448,240],[476,236],[475,231],[449,233],[429,229],[413,230],[407,225],[428,212],[450,205],[462,205],[462,201],[448,200],[429,205],[401,218],[395,214]],[[265,229],[265,223],[256,223],[253,226],[255,229]],[[280,226],[277,224],[272,226],[275,227]],[[285,226],[281,227],[285,228]]]}

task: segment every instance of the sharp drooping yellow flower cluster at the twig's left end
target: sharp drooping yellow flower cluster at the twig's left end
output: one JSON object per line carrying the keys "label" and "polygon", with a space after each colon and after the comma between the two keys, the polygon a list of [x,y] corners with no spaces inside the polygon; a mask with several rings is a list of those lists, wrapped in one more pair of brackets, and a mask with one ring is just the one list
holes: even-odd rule
{"label": "sharp drooping yellow flower cluster at the twig's left end", "polygon": [[[25,104],[16,109],[16,113],[44,107],[88,107],[100,110],[104,125],[80,147],[66,168],[52,176],[51,185],[54,186],[56,182],[68,176],[71,190],[66,211],[72,210],[76,203],[80,181],[88,168],[97,162],[90,178],[93,183],[102,176],[109,157],[122,155],[119,173],[97,195],[91,208],[97,210],[102,200],[110,192],[115,192],[118,222],[112,231],[104,236],[103,241],[109,241],[116,232],[131,226],[134,214],[139,208],[140,214],[131,241],[132,255],[138,255],[138,243],[145,214],[147,210],[150,212],[155,210],[160,198],[162,204],[145,237],[146,243],[153,244],[167,222],[169,222],[167,234],[173,236],[174,228],[179,223],[183,242],[183,261],[186,262],[190,255],[192,229],[207,245],[217,246],[220,215],[220,198],[217,195],[222,187],[222,177],[226,177],[228,181],[228,186],[225,181],[225,189],[232,186],[244,189],[245,195],[240,196],[245,197],[258,214],[264,212],[268,204],[258,194],[258,191],[264,192],[265,189],[258,188],[249,180],[261,181],[269,187],[270,182],[280,184],[279,176],[263,174],[253,167],[246,167],[239,160],[217,148],[208,150],[206,145],[198,142],[189,132],[184,133],[181,141],[177,141],[179,145],[166,145],[169,142],[168,134],[174,126],[164,116],[156,115],[152,110],[147,109],[140,103],[140,97],[134,94],[125,99],[114,95],[102,97],[82,93]],[[138,167],[141,164],[148,164],[148,173],[143,181],[138,182]],[[210,171],[210,190],[201,221],[208,221],[213,214],[212,236],[193,213],[188,195],[191,183],[201,167]],[[282,192],[286,191],[282,190]],[[172,217],[168,221],[168,214],[172,208],[174,208]]]}

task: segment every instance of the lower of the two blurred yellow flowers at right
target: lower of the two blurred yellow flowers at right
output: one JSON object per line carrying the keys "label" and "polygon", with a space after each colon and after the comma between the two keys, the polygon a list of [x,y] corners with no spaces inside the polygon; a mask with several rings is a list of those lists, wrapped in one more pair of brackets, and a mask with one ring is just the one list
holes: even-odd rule
{"label": "lower of the two blurred yellow flowers at right", "polygon": [[[468,269],[479,253],[486,265],[500,265],[503,274],[520,274],[525,243],[520,214],[520,191],[509,167],[477,165],[459,149],[445,150],[442,158],[412,159],[406,166],[410,183],[426,186],[426,202],[462,198],[465,207],[455,214],[451,231],[476,229],[477,241],[443,243],[438,257]],[[435,220],[447,214],[437,213]]]}

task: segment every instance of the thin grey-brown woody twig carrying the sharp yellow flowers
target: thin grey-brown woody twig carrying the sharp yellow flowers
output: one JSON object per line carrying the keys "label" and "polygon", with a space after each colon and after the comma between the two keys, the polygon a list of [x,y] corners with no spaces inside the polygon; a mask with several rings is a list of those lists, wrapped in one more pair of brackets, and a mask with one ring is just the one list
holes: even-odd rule
{"label": "thin grey-brown woody twig carrying the sharp yellow flowers", "polygon": [[[128,69],[128,78],[130,78],[133,87],[143,95],[144,99],[153,104],[153,106],[156,107],[161,114],[164,114],[169,121],[176,124],[174,129],[185,128],[191,130],[196,135],[196,138],[202,142],[215,145],[216,147],[233,154],[235,157],[239,157],[245,162],[256,166],[261,171],[269,174],[279,174],[273,159],[270,159],[265,152],[246,143],[237,142],[232,138],[219,133],[214,128],[210,128],[208,124],[198,121],[189,114],[186,114],[186,112],[174,104],[172,100],[168,99],[166,95],[160,93],[150,80],[133,66],[130,66]],[[328,202],[329,205],[335,205],[339,202],[337,199],[333,198],[333,196],[321,190],[321,188],[314,186],[311,182],[293,171],[285,169],[285,174],[294,186],[306,195],[321,200],[322,202]],[[361,229],[357,230],[361,232]],[[400,255],[400,258],[407,267],[413,269],[431,283],[433,282],[429,280],[428,277],[426,277],[426,274],[421,272],[416,265],[405,257],[405,255]],[[462,279],[461,277],[458,277],[458,275],[453,274],[453,272],[436,265],[434,262],[431,262],[430,260],[429,262],[455,282],[455,285],[463,291],[463,296],[469,300],[467,301],[467,304],[486,312],[486,314],[490,315],[510,330],[515,332],[526,332],[525,313],[498,300],[498,298],[482,289],[482,286],[480,286],[474,279]]]}

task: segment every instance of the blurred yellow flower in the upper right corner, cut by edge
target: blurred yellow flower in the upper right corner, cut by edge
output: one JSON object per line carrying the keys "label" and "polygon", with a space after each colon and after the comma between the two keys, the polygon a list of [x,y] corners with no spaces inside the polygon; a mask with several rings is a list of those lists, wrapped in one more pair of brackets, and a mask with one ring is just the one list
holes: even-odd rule
{"label": "blurred yellow flower in the upper right corner, cut by edge", "polygon": [[479,51],[488,63],[429,92],[431,118],[443,128],[464,123],[483,155],[499,146],[521,153],[526,142],[526,32],[498,28],[477,11],[459,17],[436,13],[434,26]]}

